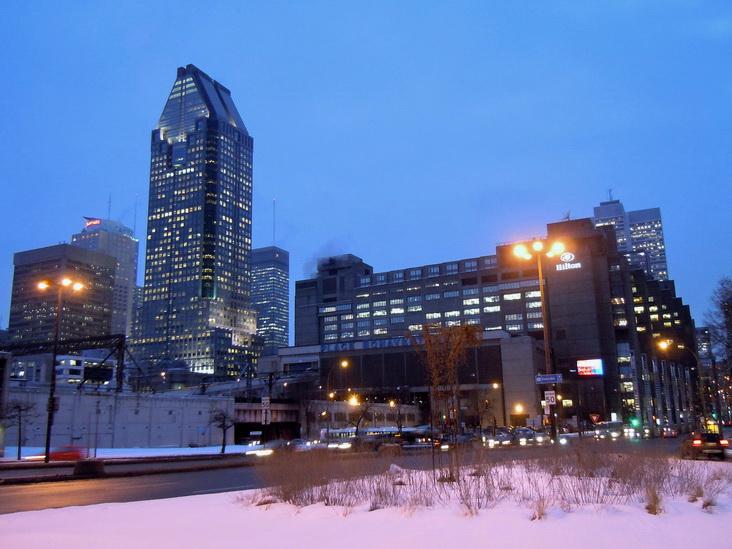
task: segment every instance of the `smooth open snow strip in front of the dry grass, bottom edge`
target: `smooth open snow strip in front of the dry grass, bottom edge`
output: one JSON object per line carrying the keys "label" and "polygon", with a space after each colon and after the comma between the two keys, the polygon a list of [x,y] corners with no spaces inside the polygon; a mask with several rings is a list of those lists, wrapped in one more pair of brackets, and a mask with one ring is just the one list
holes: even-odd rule
{"label": "smooth open snow strip in front of the dry grass, bottom edge", "polygon": [[[458,505],[419,509],[345,510],[322,504],[297,508],[247,505],[246,493],[91,505],[0,516],[4,549],[136,549],[167,547],[333,548],[501,547],[562,549],[695,547],[700,533],[724,547],[732,502],[712,512],[678,498],[649,515],[642,504],[551,509],[543,520],[504,502],[468,516]],[[713,540],[713,543],[712,543]]]}

